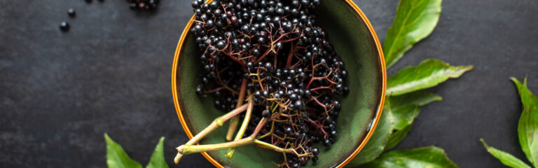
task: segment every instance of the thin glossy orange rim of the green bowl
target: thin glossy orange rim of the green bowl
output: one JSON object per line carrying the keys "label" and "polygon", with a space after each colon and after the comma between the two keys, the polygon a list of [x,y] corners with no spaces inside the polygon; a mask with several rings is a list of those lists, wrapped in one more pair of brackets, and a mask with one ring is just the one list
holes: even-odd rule
{"label": "thin glossy orange rim of the green bowl", "polygon": [[[211,2],[212,0],[207,1],[206,3]],[[387,89],[387,70],[385,67],[385,57],[383,56],[383,50],[381,48],[381,44],[379,42],[378,36],[375,34],[375,30],[373,29],[370,21],[368,21],[368,18],[366,18],[366,15],[362,12],[362,10],[352,1],[352,0],[345,0],[348,5],[350,5],[357,14],[361,17],[361,19],[364,21],[366,26],[368,27],[368,30],[370,31],[373,40],[375,41],[375,45],[378,49],[379,53],[379,60],[380,60],[380,66],[381,66],[381,73],[382,73],[382,92],[381,92],[381,99],[378,106],[378,111],[375,114],[375,118],[373,121],[373,124],[371,125],[371,130],[366,134],[366,137],[361,141],[361,144],[355,151],[348,156],[343,162],[340,162],[340,164],[336,165],[336,167],[344,167],[348,162],[350,162],[358,153],[361,151],[362,148],[366,145],[366,142],[372,137],[373,132],[375,131],[375,127],[377,127],[381,113],[383,111],[383,104],[385,103],[385,91]],[[187,25],[185,26],[185,29],[183,30],[183,33],[181,34],[181,38],[179,38],[179,42],[177,43],[176,52],[174,54],[174,63],[172,64],[172,97],[174,99],[174,106],[176,107],[176,113],[179,118],[179,121],[181,122],[181,127],[185,130],[185,133],[188,136],[188,139],[193,139],[194,135],[193,132],[191,132],[191,129],[188,128],[188,125],[186,123],[185,118],[183,117],[183,113],[181,113],[181,108],[179,107],[179,100],[177,95],[177,64],[179,62],[179,52],[181,52],[181,46],[183,45],[185,38],[188,34],[188,29],[193,25],[193,20],[195,20],[195,15],[191,17],[191,20],[187,22]],[[202,155],[209,160],[215,167],[224,168],[223,165],[221,165],[219,162],[214,160],[208,153],[203,152]]]}

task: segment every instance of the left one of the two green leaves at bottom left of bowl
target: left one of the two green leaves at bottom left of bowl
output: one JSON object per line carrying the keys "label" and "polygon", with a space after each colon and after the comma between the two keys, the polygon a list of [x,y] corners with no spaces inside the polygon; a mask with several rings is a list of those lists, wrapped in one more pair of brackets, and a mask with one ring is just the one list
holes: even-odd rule
{"label": "left one of the two green leaves at bottom left of bowl", "polygon": [[109,168],[142,168],[139,162],[129,158],[120,144],[113,141],[108,134],[104,134],[106,141],[106,165]]}

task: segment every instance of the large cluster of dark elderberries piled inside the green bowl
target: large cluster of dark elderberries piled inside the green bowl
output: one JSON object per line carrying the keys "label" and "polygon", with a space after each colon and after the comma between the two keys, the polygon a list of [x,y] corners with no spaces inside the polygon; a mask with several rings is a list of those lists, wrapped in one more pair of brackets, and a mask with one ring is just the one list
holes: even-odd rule
{"label": "large cluster of dark elderberries piled inside the green bowl", "polygon": [[[325,32],[316,25],[320,0],[216,0],[192,3],[191,33],[202,51],[205,70],[196,93],[214,95],[221,111],[254,100],[244,136],[262,118],[258,137],[280,148],[294,148],[281,167],[317,162],[321,142],[331,146],[338,132],[338,97],[349,92],[347,71]],[[246,102],[246,101],[245,101]],[[244,118],[244,115],[242,116]],[[267,136],[264,136],[267,135]]]}

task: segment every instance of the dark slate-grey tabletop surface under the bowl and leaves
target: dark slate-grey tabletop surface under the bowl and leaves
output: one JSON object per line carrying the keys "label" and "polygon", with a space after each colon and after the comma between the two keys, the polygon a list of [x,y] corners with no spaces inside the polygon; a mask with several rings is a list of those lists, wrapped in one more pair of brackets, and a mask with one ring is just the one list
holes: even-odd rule
{"label": "dark slate-grey tabletop surface under the bowl and leaves", "polygon": [[[398,1],[355,2],[384,38]],[[0,6],[0,167],[106,167],[104,132],[142,165],[165,136],[172,165],[173,147],[187,137],[170,71],[190,1],[163,0],[156,13],[111,0],[0,0]],[[443,101],[425,106],[396,148],[435,145],[460,167],[502,167],[482,137],[524,159],[516,134],[520,102],[509,77],[528,76],[538,92],[537,20],[533,0],[444,1],[432,36],[389,74],[430,57],[475,69],[432,89]],[[62,21],[71,31],[58,29]],[[199,154],[181,164],[212,167]]]}

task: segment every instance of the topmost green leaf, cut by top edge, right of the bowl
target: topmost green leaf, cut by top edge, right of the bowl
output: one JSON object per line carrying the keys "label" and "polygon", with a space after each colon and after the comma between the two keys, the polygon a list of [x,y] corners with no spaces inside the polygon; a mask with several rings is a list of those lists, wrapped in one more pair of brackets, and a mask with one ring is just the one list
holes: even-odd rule
{"label": "topmost green leaf, cut by top edge, right of the bowl", "polygon": [[415,43],[434,31],[441,15],[441,0],[401,0],[396,18],[387,31],[383,53],[387,68],[394,65]]}

